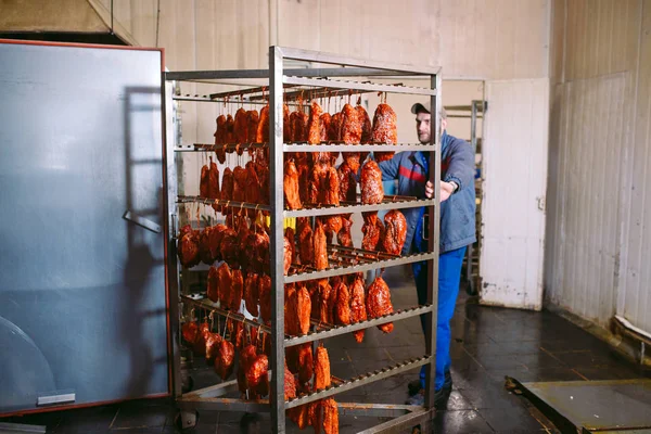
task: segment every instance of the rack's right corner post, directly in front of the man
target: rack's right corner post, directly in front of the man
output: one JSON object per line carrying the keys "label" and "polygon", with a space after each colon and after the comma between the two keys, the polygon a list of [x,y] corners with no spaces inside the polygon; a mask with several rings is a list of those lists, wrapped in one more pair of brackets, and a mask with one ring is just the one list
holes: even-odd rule
{"label": "rack's right corner post, directly in front of the man", "polygon": [[436,89],[436,95],[430,98],[432,115],[430,122],[430,143],[436,144],[436,151],[431,152],[430,158],[430,182],[434,184],[435,204],[429,207],[430,214],[430,241],[429,250],[434,252],[434,259],[427,261],[427,304],[432,305],[432,312],[426,315],[425,353],[433,356],[432,362],[425,371],[425,407],[434,406],[434,379],[436,373],[436,323],[438,310],[438,220],[439,220],[439,192],[441,192],[441,71],[431,76],[431,87]]}

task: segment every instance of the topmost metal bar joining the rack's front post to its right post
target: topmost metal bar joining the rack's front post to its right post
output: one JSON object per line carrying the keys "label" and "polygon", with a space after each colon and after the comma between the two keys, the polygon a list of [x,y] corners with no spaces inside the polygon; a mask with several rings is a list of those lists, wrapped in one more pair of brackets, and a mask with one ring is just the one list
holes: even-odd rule
{"label": "topmost metal bar joining the rack's front post to its right post", "polygon": [[436,75],[441,72],[439,67],[417,67],[393,62],[379,62],[368,59],[352,58],[339,54],[324,53],[321,51],[302,50],[297,48],[279,47],[283,59],[293,59],[296,61],[327,63],[331,65],[348,65],[366,67],[373,69],[391,69],[419,75]]}

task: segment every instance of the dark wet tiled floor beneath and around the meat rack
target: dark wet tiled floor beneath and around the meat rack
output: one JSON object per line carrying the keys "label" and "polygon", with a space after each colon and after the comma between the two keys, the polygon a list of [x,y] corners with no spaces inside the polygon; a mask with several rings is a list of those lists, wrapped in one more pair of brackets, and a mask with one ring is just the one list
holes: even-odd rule
{"label": "dark wet tiled floor beneath and around the meat rack", "polygon": [[[400,269],[385,276],[394,306],[416,304],[410,278]],[[406,358],[422,355],[418,319],[395,324],[390,335],[367,331],[362,344],[345,335],[326,341],[332,373],[350,378]],[[635,379],[644,373],[613,356],[604,343],[548,311],[532,312],[483,307],[461,294],[452,320],[454,391],[447,409],[434,421],[438,433],[558,432],[522,396],[505,390],[505,375],[521,382]],[[214,383],[208,369],[192,371],[197,387]],[[407,383],[417,371],[366,385],[335,398],[339,401],[403,404]],[[48,433],[174,433],[176,409],[169,399],[137,400],[79,410],[0,420],[47,425]],[[376,418],[341,418],[341,433],[380,422]],[[288,422],[289,432],[299,432]],[[194,433],[269,433],[268,414],[202,412]],[[311,432],[311,429],[309,431]]]}

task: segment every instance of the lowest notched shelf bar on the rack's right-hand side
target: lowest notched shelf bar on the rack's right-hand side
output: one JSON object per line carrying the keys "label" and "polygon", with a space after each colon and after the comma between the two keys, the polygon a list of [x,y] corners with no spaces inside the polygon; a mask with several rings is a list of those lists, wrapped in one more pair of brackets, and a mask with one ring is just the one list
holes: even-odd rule
{"label": "lowest notched shelf bar on the rack's right-hand side", "polygon": [[356,376],[354,379],[344,381],[342,384],[330,386],[323,391],[314,392],[307,395],[302,395],[301,397],[290,399],[285,401],[285,408],[294,408],[302,406],[304,404],[308,404],[318,399],[323,399],[329,396],[333,396],[340,394],[342,392],[350,391],[353,388],[362,386],[365,384],[370,384],[379,380],[386,379],[388,376],[396,375],[401,372],[409,371],[411,369],[418,368],[420,366],[426,365],[431,362],[434,358],[432,356],[422,356],[416,359],[410,359],[404,361],[401,363],[393,365],[383,369],[379,369],[374,372],[368,372],[366,374]]}

